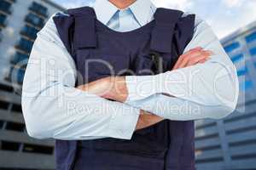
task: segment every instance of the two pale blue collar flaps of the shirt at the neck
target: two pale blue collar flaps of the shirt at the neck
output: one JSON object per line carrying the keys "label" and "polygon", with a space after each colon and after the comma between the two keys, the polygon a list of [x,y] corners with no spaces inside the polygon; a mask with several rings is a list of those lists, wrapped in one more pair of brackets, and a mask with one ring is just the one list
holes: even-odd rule
{"label": "two pale blue collar flaps of the shirt at the neck", "polygon": [[[154,7],[154,4],[151,3],[150,0],[137,0],[135,3],[132,3],[129,8],[139,24],[143,26],[147,24],[148,18],[151,17],[148,16],[148,14],[150,14],[152,7]],[[111,20],[113,14],[119,10],[119,8],[114,6],[113,3],[110,3],[108,0],[96,0],[94,9],[97,20],[100,20],[105,25]]]}

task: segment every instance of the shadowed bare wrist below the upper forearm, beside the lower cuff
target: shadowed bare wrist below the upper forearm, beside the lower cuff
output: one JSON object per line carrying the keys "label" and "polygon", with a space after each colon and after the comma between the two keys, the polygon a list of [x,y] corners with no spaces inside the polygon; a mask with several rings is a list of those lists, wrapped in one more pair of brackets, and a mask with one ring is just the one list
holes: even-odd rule
{"label": "shadowed bare wrist below the upper forearm, beside the lower cuff", "polygon": [[153,115],[151,113],[148,113],[146,111],[141,110],[140,116],[137,121],[137,126],[136,130],[145,128],[145,127],[150,127],[158,122],[163,121],[164,118],[160,116]]}

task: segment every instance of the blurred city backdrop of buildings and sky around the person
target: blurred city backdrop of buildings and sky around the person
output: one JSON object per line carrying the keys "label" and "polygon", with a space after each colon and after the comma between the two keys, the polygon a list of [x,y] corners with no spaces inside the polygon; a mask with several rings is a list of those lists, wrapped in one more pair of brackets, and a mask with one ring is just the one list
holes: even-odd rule
{"label": "blurred city backdrop of buildings and sky around the person", "polygon": [[[240,98],[236,111],[221,121],[195,125],[198,170],[256,169],[256,0],[154,0],[207,20],[237,68]],[[0,169],[55,168],[54,141],[29,138],[20,90],[37,32],[52,14],[93,5],[90,0],[0,0]],[[17,63],[22,67],[15,67]],[[12,82],[11,82],[12,80]],[[15,82],[13,82],[15,80]]]}

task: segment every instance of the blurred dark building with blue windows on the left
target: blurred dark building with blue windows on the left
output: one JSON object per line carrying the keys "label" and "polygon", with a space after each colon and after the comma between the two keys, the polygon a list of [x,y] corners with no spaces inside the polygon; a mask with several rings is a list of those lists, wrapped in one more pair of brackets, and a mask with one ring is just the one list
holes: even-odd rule
{"label": "blurred dark building with blue windows on the left", "polygon": [[0,169],[55,167],[54,141],[26,134],[20,88],[37,32],[60,10],[49,0],[0,0]]}

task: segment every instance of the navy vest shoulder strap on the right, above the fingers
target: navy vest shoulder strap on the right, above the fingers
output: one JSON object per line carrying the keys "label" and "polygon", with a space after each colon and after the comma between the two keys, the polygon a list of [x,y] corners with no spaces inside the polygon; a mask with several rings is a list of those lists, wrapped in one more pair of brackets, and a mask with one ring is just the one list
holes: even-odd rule
{"label": "navy vest shoulder strap on the right, above the fingers", "polygon": [[184,16],[179,10],[157,8],[154,20],[150,48],[161,53],[171,53],[175,43],[177,54],[182,54],[194,34],[195,14]]}

